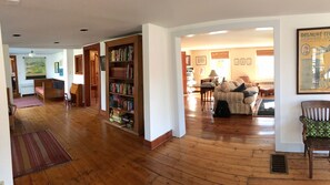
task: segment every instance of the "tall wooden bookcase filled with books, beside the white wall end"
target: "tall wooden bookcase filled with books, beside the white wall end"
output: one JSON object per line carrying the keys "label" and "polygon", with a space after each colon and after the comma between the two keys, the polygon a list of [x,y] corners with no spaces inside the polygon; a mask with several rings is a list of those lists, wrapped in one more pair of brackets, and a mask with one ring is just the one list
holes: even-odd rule
{"label": "tall wooden bookcase filled with books, beside the white wall end", "polygon": [[107,112],[110,124],[143,135],[142,37],[106,42]]}

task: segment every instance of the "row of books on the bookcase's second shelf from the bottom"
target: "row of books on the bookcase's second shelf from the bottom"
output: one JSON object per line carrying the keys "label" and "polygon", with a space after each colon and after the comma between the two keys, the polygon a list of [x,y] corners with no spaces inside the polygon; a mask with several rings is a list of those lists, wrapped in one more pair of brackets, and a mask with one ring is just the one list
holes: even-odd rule
{"label": "row of books on the bookcase's second shelf from the bottom", "polygon": [[120,109],[128,112],[134,112],[134,101],[126,99],[117,94],[110,95],[109,100],[110,107]]}

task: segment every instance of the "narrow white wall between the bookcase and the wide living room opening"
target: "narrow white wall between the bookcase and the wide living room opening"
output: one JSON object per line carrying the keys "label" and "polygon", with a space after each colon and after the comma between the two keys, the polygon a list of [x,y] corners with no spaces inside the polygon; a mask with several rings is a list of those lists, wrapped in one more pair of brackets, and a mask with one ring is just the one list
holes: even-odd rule
{"label": "narrow white wall between the bookcase and the wide living room opening", "polygon": [[148,23],[142,25],[142,39],[144,138],[153,141],[172,130],[169,33]]}

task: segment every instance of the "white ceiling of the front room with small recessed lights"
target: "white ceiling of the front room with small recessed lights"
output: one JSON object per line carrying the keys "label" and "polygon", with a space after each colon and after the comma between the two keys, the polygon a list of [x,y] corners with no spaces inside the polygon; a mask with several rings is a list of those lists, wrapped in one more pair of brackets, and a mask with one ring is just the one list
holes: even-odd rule
{"label": "white ceiling of the front room with small recessed lights", "polygon": [[[143,23],[197,22],[329,12],[329,0],[0,0],[3,43],[10,48],[81,48],[140,32]],[[88,28],[88,32],[80,32]],[[19,33],[20,38],[12,34]],[[53,42],[60,42],[54,44]]]}

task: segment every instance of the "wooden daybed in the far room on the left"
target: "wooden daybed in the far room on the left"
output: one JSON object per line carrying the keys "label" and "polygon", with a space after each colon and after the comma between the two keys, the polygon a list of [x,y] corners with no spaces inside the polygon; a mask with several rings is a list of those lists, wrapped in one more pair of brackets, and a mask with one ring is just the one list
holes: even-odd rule
{"label": "wooden daybed in the far room on the left", "polygon": [[64,82],[57,79],[36,79],[34,93],[40,99],[64,97]]}

